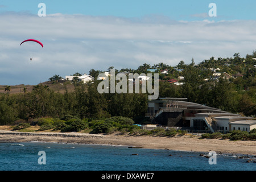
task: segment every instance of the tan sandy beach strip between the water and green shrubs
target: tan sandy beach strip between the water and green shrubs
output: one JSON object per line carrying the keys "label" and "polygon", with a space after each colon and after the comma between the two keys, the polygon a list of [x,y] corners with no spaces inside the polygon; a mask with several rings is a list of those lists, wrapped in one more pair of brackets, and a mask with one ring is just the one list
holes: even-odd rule
{"label": "tan sandy beach strip between the water and green shrubs", "polygon": [[115,146],[130,146],[165,150],[216,151],[222,154],[256,155],[255,140],[222,140],[200,139],[192,135],[176,137],[131,136],[115,134],[86,134],[86,133],[29,133],[0,130],[1,142],[61,142],[79,144],[109,144]]}

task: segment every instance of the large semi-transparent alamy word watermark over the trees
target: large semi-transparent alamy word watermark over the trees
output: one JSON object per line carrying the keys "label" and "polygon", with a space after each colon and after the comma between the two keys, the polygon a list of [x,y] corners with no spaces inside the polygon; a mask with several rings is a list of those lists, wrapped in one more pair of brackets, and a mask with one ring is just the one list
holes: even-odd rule
{"label": "large semi-transparent alamy word watermark over the trees", "polygon": [[[98,80],[102,80],[98,84],[98,93],[109,93],[109,76],[101,73],[98,75]],[[115,85],[115,81],[117,84]],[[159,96],[159,75],[154,73],[154,86],[152,85],[152,73],[129,73],[128,76],[128,93],[149,93],[148,100],[156,100]],[[140,84],[141,83],[141,84]],[[115,76],[115,69],[110,69],[110,93],[127,93],[127,76],[125,73],[118,73]]]}

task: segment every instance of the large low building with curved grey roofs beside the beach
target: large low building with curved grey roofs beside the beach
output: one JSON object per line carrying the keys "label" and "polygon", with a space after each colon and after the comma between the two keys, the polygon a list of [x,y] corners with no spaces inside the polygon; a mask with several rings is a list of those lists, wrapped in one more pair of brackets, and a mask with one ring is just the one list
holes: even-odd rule
{"label": "large low building with curved grey roofs beside the beach", "polygon": [[232,130],[250,131],[256,120],[213,107],[187,102],[187,98],[159,98],[148,101],[147,116],[152,123],[183,130],[228,133]]}

